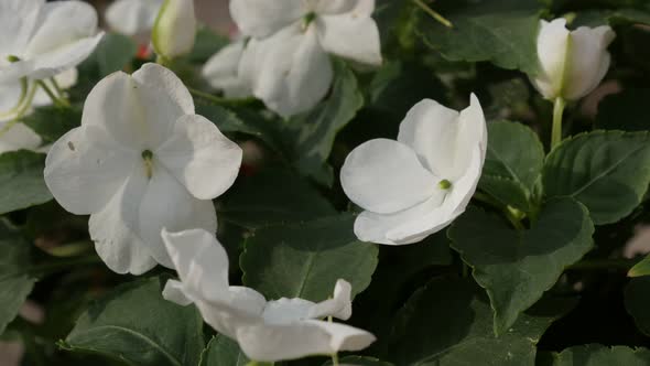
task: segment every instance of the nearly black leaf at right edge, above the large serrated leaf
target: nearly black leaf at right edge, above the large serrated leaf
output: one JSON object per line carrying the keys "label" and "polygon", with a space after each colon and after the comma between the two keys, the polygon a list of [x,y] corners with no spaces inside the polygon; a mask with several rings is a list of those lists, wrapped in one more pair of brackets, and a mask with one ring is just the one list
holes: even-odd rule
{"label": "nearly black leaf at right edge, above the large serrated leaf", "polygon": [[650,89],[624,89],[606,96],[598,104],[596,128],[606,130],[644,131],[650,129]]}

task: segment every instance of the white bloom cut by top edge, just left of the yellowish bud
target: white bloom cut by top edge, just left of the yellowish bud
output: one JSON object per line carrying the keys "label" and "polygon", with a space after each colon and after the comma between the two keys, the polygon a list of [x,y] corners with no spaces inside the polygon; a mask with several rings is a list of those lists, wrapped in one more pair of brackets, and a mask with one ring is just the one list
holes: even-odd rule
{"label": "white bloom cut by top edge, just left of the yellowish bud", "polygon": [[164,0],[117,0],[106,10],[106,22],[117,32],[137,35],[151,31]]}

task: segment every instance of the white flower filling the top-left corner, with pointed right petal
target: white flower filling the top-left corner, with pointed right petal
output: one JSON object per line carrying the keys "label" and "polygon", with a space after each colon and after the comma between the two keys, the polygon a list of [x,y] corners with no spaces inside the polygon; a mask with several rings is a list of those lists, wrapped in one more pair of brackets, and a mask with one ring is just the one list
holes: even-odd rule
{"label": "white flower filling the top-left corner, with pointed right petal", "polygon": [[0,1],[0,83],[43,79],[75,67],[101,40],[97,12],[82,1]]}

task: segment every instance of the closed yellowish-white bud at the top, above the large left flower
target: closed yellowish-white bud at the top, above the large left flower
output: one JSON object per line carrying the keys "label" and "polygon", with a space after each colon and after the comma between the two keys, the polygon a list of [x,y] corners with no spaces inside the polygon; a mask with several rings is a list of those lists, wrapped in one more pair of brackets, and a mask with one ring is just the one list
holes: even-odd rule
{"label": "closed yellowish-white bud at the top, above the large left flower", "polygon": [[165,0],[151,35],[155,53],[170,60],[189,53],[195,36],[194,0]]}

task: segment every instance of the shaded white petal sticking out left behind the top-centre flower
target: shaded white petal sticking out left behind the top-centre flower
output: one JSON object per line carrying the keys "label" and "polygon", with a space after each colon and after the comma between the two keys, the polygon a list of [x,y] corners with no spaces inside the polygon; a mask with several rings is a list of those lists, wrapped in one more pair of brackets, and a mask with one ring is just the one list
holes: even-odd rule
{"label": "shaded white petal sticking out left behind the top-centre flower", "polygon": [[239,77],[239,62],[246,41],[236,41],[213,55],[203,67],[203,77],[228,98],[242,98],[252,94],[247,80]]}

